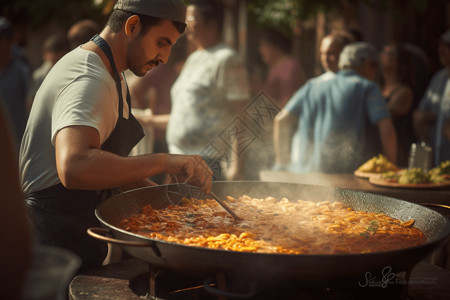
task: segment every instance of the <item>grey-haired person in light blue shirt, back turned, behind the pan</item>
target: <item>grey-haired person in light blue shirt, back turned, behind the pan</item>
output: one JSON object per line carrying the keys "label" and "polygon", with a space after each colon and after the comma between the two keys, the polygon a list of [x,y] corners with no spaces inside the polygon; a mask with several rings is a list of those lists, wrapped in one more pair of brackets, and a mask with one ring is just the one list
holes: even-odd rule
{"label": "grey-haired person in light blue shirt, back turned, behind the pan", "polygon": [[368,43],[348,44],[335,77],[310,80],[289,100],[274,123],[275,169],[291,172],[353,173],[376,154],[368,135],[376,126],[383,154],[396,162],[397,137],[373,81],[378,54]]}

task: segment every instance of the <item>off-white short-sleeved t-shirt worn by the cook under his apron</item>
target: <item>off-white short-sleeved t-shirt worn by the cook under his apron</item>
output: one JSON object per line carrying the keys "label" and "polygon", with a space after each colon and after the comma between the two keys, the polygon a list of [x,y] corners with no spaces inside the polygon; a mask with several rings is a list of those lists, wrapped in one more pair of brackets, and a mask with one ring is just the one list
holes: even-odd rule
{"label": "off-white short-sleeved t-shirt worn by the cook under his apron", "polygon": [[[122,90],[126,95],[124,80]],[[103,143],[116,125],[118,99],[114,79],[96,53],[78,47],[60,59],[36,93],[22,139],[19,168],[23,191],[29,194],[60,183],[54,148],[59,130],[93,127]]]}

